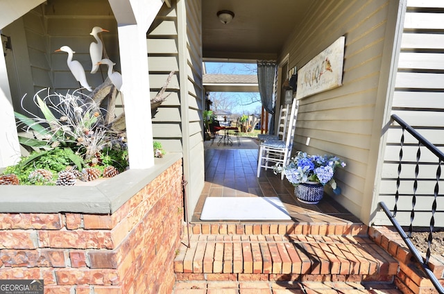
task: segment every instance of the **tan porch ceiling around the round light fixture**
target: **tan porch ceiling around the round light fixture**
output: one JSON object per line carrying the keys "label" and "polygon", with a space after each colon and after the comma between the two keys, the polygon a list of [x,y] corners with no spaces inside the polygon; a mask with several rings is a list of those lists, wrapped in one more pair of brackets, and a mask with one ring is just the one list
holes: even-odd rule
{"label": "tan porch ceiling around the round light fixture", "polygon": [[[203,0],[203,58],[275,60],[315,4],[313,0]],[[234,19],[221,23],[219,10],[231,10]]]}

